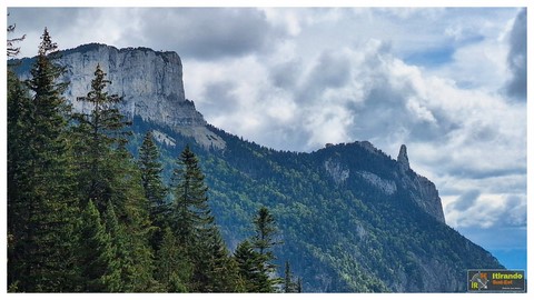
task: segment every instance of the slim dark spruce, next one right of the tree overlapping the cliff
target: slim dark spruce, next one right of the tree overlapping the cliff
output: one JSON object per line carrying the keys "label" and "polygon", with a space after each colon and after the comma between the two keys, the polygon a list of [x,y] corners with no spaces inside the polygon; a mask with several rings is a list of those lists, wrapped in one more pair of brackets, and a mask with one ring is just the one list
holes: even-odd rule
{"label": "slim dark spruce, next one right of the tree overlapping the cliff", "polygon": [[169,222],[170,206],[166,202],[167,189],[161,179],[162,167],[161,162],[159,162],[159,151],[154,142],[151,131],[145,134],[142,144],[139,148],[138,166],[141,172],[145,198],[149,203],[150,221],[155,227],[150,244],[154,250],[157,250],[164,234],[162,229]]}

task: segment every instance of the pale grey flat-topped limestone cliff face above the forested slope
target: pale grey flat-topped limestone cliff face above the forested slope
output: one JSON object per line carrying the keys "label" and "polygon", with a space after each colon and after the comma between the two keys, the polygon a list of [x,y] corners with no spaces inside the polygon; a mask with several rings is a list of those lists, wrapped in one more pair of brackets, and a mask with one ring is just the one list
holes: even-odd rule
{"label": "pale grey flat-topped limestone cliff face above the forested slope", "polygon": [[[59,53],[56,62],[66,68],[61,80],[70,84],[65,97],[78,112],[89,112],[89,103],[77,101],[87,96],[98,64],[111,81],[107,91],[123,98],[119,110],[132,119],[170,127],[194,137],[205,147],[224,148],[222,139],[206,128],[206,120],[187,100],[184,91],[182,66],[176,52],[158,52],[147,48],[117,49],[106,44],[85,44]],[[22,60],[21,77],[29,76],[31,60]],[[24,66],[26,64],[26,66]]]}

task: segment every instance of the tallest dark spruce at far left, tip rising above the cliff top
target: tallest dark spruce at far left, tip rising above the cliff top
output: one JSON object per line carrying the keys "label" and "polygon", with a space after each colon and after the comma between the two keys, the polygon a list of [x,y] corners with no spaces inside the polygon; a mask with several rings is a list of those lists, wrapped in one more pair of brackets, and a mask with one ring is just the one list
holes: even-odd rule
{"label": "tallest dark spruce at far left, tip rising above the cliff top", "polygon": [[[18,218],[8,226],[13,244],[10,283],[20,291],[75,288],[78,203],[66,130],[70,108],[61,96],[67,83],[57,82],[63,69],[51,60],[56,49],[44,29],[31,78],[26,81],[31,101],[18,97],[21,102],[10,103],[14,114],[8,118],[9,134],[20,133],[8,137],[13,141],[8,150],[8,207],[11,218]],[[17,90],[14,94],[21,96]],[[13,152],[21,147],[26,150]]]}

